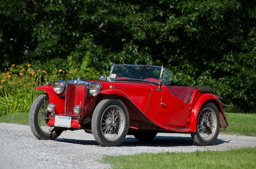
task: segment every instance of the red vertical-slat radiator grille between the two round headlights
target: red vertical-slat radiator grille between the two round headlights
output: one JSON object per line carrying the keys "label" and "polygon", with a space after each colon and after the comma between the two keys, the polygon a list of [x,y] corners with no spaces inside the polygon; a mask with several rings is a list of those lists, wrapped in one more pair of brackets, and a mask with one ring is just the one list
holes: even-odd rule
{"label": "red vertical-slat radiator grille between the two round headlights", "polygon": [[77,116],[77,114],[73,112],[73,108],[81,102],[81,107],[84,109],[85,97],[86,85],[73,85],[68,83],[66,90],[65,114]]}

